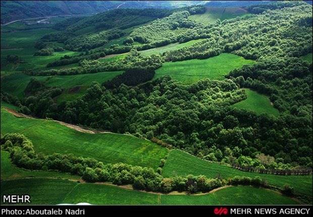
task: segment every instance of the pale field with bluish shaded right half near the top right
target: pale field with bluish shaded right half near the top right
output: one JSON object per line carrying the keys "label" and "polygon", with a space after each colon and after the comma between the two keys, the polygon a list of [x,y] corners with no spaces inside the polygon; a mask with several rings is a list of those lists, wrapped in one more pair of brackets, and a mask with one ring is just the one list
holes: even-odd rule
{"label": "pale field with bluish shaded right half near the top right", "polygon": [[214,23],[218,19],[221,21],[229,20],[236,17],[247,15],[248,12],[242,8],[206,8],[204,14],[195,14],[188,17],[190,20],[194,20],[203,24]]}

